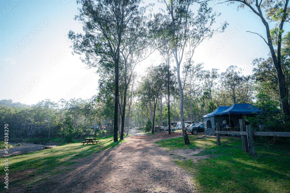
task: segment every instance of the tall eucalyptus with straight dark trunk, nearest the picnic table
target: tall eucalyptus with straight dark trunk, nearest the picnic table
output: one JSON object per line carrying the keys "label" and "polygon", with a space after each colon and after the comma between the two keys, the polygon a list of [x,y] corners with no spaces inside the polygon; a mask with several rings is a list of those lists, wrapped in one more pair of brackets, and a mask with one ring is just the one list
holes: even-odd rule
{"label": "tall eucalyptus with straight dark trunk, nearest the picnic table", "polygon": [[138,14],[140,0],[77,0],[82,7],[75,20],[82,22],[84,34],[70,30],[73,50],[84,54],[88,67],[111,63],[115,72],[114,141],[118,141],[119,61],[125,31]]}

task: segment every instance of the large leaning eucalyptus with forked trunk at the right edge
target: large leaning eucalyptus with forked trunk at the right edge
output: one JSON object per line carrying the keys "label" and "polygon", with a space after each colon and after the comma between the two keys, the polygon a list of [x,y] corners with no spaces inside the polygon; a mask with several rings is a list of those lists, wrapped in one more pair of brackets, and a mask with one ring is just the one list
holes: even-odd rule
{"label": "large leaning eucalyptus with forked trunk at the right edge", "polygon": [[[289,97],[287,95],[285,76],[281,65],[281,46],[282,35],[284,33],[284,24],[289,23],[290,21],[289,0],[227,0],[224,2],[239,2],[240,5],[238,5],[238,9],[245,7],[250,8],[250,10],[261,19],[263,25],[265,26],[267,38],[264,38],[256,32],[251,33],[260,36],[270,49],[273,64],[277,73],[282,114],[285,115],[286,121],[290,121]],[[263,14],[265,14],[265,16]],[[269,23],[274,26],[272,29],[270,29]],[[274,47],[277,47],[277,52],[275,52]]]}

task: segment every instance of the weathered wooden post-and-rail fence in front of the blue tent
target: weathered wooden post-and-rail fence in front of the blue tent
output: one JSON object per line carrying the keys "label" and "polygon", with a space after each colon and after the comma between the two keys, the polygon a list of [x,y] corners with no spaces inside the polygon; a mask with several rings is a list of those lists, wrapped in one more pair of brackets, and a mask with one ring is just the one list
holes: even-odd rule
{"label": "weathered wooden post-and-rail fence in front of the blue tent", "polygon": [[244,152],[249,152],[250,155],[255,155],[255,144],[253,135],[260,136],[279,136],[290,137],[290,132],[253,132],[251,125],[246,125],[244,119],[240,119],[240,131],[220,131],[220,123],[216,123],[217,144],[220,146],[220,134],[241,135],[242,147]]}

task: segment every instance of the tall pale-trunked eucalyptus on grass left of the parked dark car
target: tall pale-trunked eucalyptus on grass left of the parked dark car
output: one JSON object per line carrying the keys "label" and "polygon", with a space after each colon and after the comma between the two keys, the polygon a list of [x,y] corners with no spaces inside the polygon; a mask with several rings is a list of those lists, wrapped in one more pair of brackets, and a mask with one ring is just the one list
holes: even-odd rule
{"label": "tall pale-trunked eucalyptus on grass left of the parked dark car", "polygon": [[[215,23],[215,17],[220,14],[211,13],[212,8],[207,8],[207,3],[201,3],[197,11],[197,16],[193,17],[193,12],[189,8],[195,1],[179,0],[169,1],[162,0],[166,5],[166,10],[171,19],[172,39],[171,47],[177,66],[177,81],[180,90],[180,118],[182,123],[182,133],[185,144],[190,144],[186,130],[184,129],[184,113],[183,113],[183,89],[180,80],[180,66],[183,64],[182,59],[184,52],[187,52],[187,61],[185,69],[189,69],[192,65],[192,58],[195,48],[207,38],[211,38],[215,32],[223,32],[227,23],[222,24],[221,27],[212,30],[211,27]],[[186,48],[187,47],[187,48]],[[185,49],[186,48],[186,49]],[[185,73],[185,80],[186,80]]]}

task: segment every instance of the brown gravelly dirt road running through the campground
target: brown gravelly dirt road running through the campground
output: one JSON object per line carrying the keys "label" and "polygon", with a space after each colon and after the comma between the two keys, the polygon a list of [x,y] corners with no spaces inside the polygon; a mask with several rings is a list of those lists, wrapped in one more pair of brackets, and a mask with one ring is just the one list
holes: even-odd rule
{"label": "brown gravelly dirt road running through the campground", "polygon": [[115,148],[79,159],[72,166],[77,169],[53,176],[29,192],[198,192],[172,162],[170,152],[155,144],[161,139],[130,136]]}

